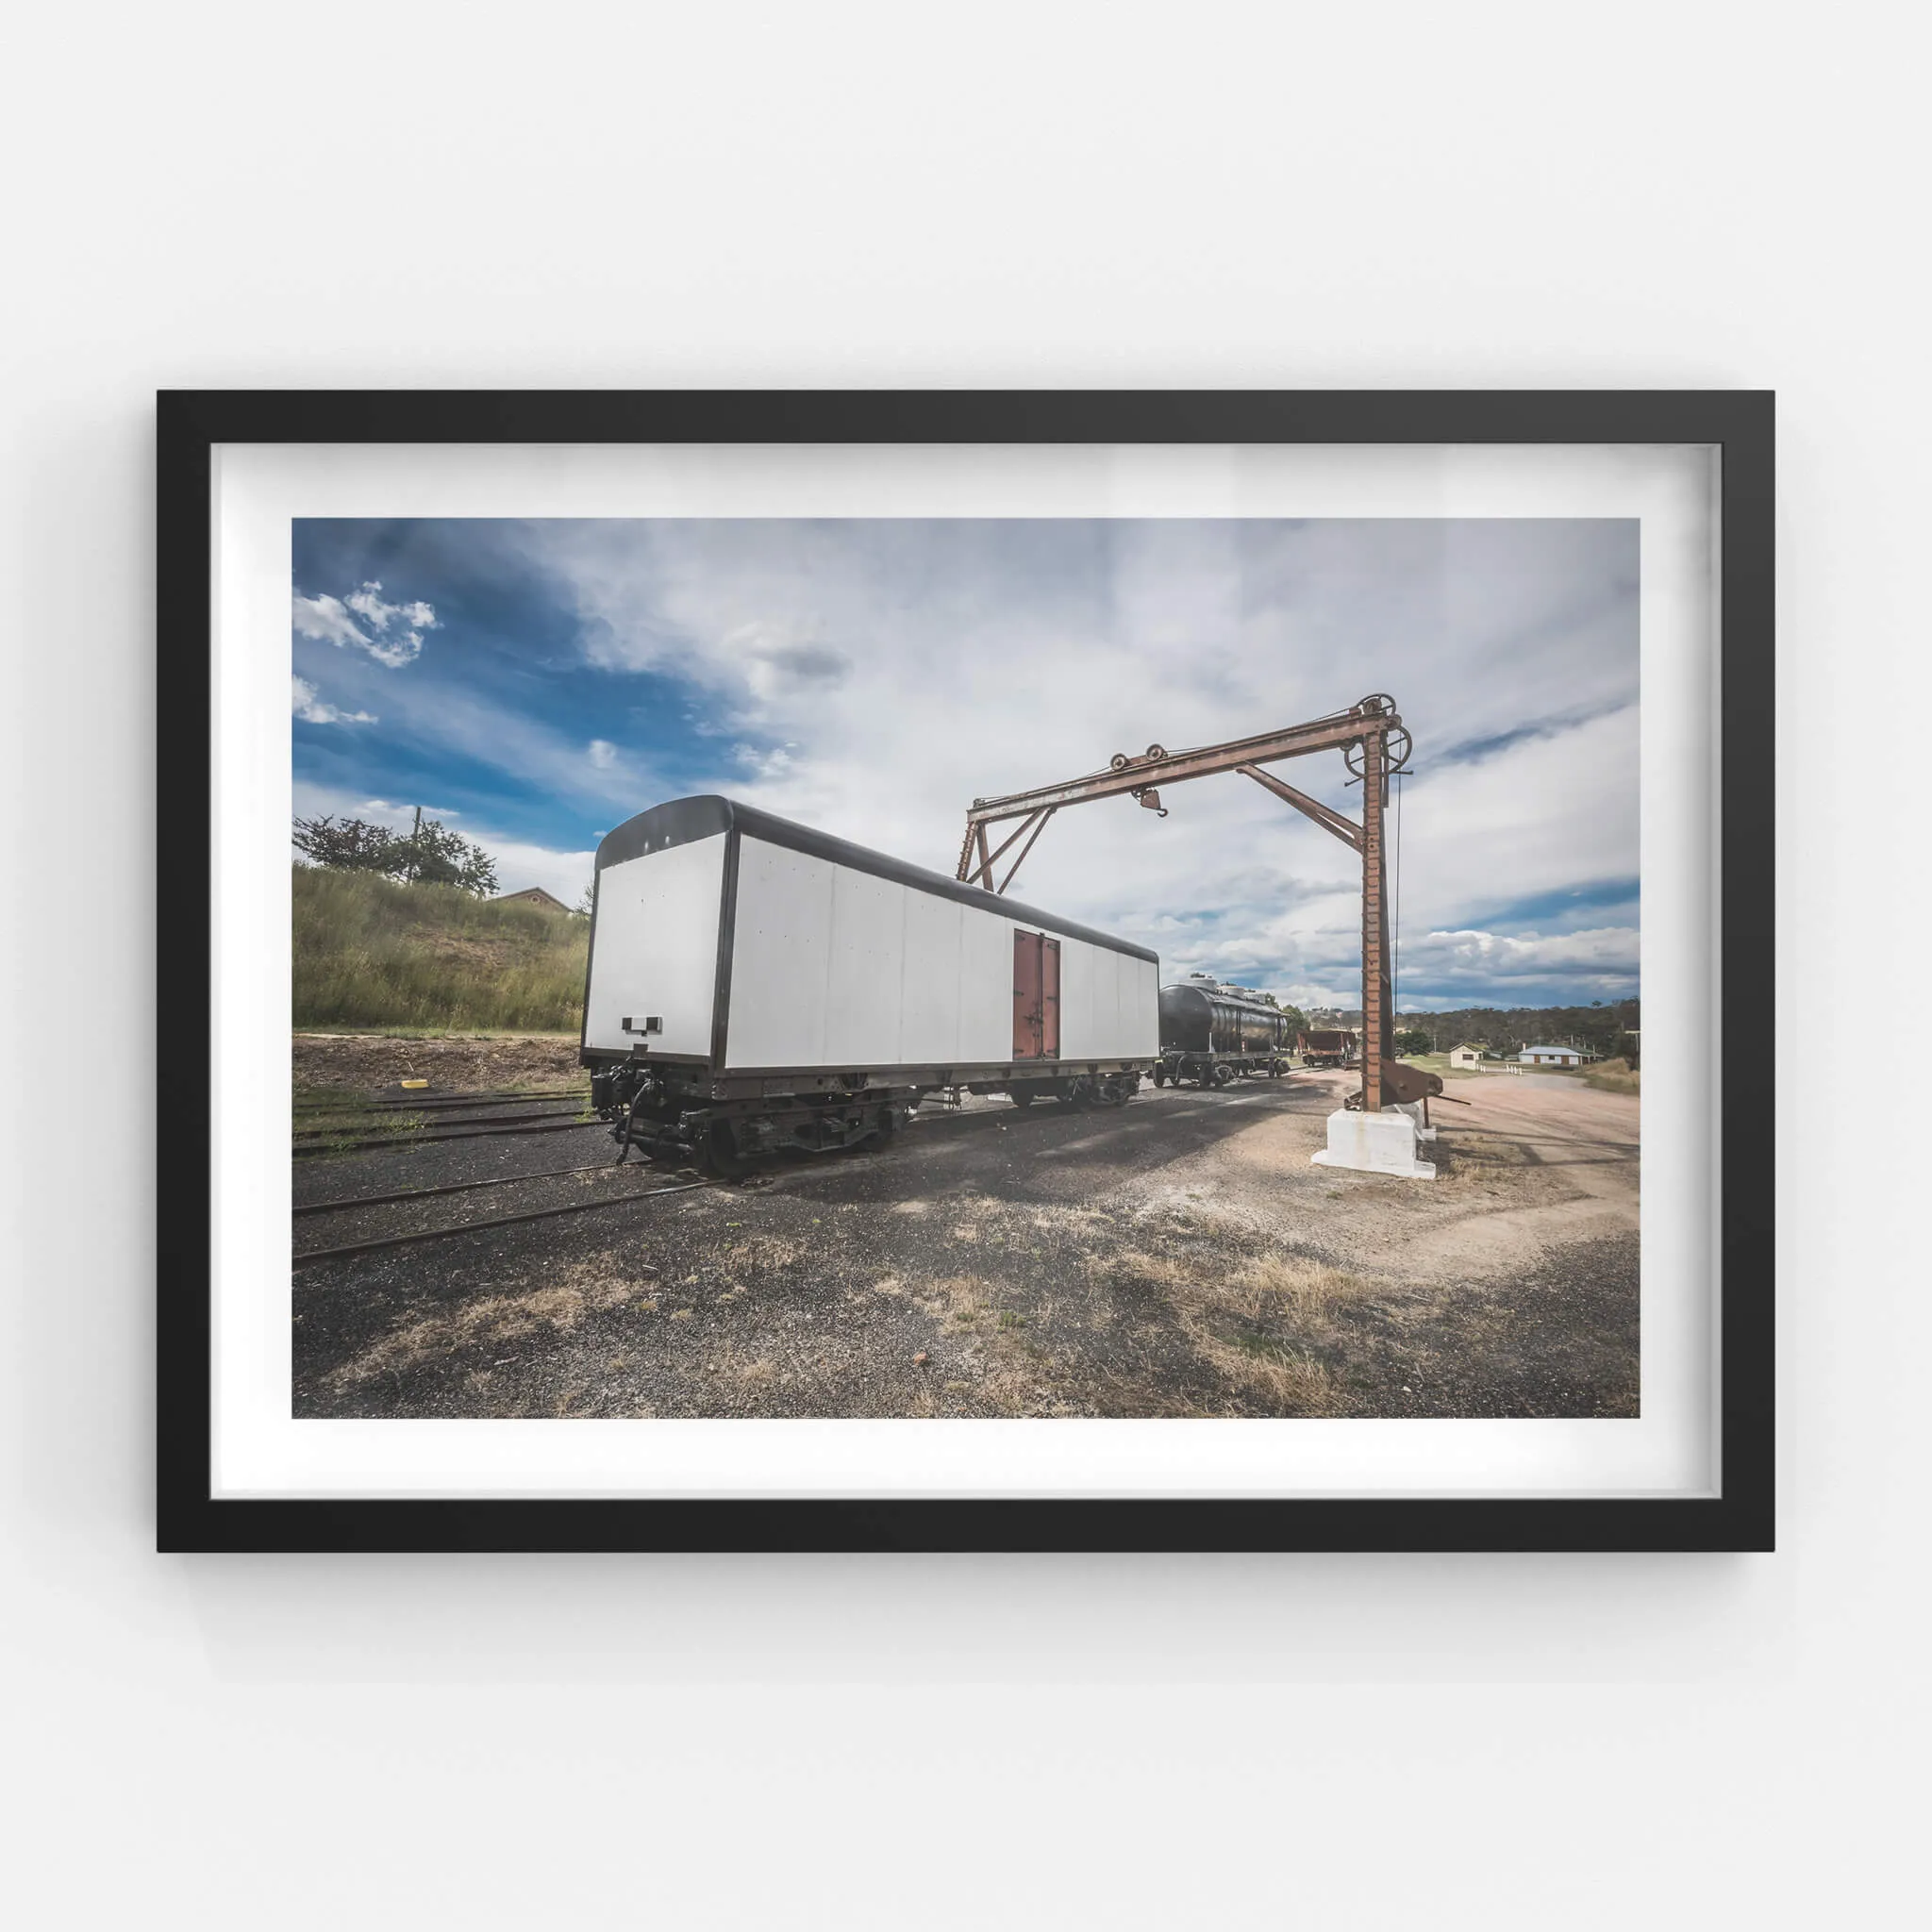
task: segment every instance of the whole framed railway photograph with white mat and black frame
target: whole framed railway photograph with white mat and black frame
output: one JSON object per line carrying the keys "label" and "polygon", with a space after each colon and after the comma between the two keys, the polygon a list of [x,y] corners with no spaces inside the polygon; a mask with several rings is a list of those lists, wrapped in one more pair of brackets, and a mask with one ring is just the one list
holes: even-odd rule
{"label": "whole framed railway photograph with white mat and black frame", "polygon": [[1772,448],[164,392],[160,1546],[1772,1548]]}

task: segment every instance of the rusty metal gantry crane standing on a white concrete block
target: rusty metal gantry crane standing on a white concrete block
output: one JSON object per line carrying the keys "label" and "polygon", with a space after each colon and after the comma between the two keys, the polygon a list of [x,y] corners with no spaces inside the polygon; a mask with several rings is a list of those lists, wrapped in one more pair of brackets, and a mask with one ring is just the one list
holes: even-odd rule
{"label": "rusty metal gantry crane standing on a white concrete block", "polygon": [[[1009,798],[976,798],[966,813],[966,842],[960,846],[954,877],[976,881],[989,893],[1005,893],[1026,854],[1034,850],[1034,840],[1045,831],[1047,819],[1063,806],[1084,806],[1094,798],[1119,798],[1124,792],[1150,811],[1167,817],[1159,784],[1206,779],[1217,771],[1238,771],[1362,854],[1362,1092],[1350,1105],[1378,1111],[1391,1101],[1412,1101],[1424,1094],[1422,1080],[1428,1080],[1428,1086],[1437,1094],[1441,1092],[1437,1080],[1397,1065],[1393,1039],[1389,867],[1383,815],[1389,804],[1389,779],[1406,769],[1412,748],[1395,699],[1387,692],[1374,692],[1347,711],[1331,711],[1323,719],[1262,732],[1258,738],[1236,738],[1231,744],[1209,744],[1194,752],[1169,752],[1165,746],[1150,744],[1140,757],[1115,752],[1107,771],[1068,779],[1065,784],[1043,784],[1032,792],[1012,792]],[[1262,769],[1287,757],[1306,757],[1310,752],[1329,750],[1339,750],[1350,775],[1362,782],[1360,825]],[[1012,819],[1020,821],[1014,831],[1001,844],[991,846],[987,829],[1007,825]],[[1018,856],[1007,867],[1007,875],[995,883],[995,866],[1016,844]],[[1416,1092],[1410,1092],[1412,1086]],[[1372,1094],[1374,1101],[1370,1101]]]}

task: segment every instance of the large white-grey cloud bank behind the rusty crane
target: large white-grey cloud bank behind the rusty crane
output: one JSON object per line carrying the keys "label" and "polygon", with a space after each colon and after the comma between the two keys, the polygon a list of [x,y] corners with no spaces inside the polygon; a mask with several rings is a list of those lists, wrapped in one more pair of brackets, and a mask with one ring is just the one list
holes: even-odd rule
{"label": "large white-grey cloud bank behind the rusty crane", "polygon": [[[699,686],[705,784],[943,873],[976,796],[1374,690],[1416,736],[1405,989],[1410,964],[1484,970],[1414,935],[1488,931],[1511,902],[1638,869],[1629,526],[746,520],[531,541],[593,663]],[[1277,769],[1360,813],[1339,755]],[[1163,802],[1165,821],[1128,800],[1063,811],[1014,896],[1146,939],[1165,972],[1358,1001],[1354,854],[1233,775]],[[1517,978],[1536,964],[1511,945],[1488,958]],[[1575,951],[1546,964],[1619,970]]]}

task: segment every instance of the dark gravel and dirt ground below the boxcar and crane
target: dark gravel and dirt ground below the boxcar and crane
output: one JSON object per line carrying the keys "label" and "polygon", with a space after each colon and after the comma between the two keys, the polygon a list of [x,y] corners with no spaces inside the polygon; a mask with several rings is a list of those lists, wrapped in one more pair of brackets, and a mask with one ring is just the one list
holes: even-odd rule
{"label": "dark gravel and dirt ground below the boxcar and crane", "polygon": [[[1434,1182],[1314,1167],[1345,1074],[922,1109],[887,1150],[294,1277],[298,1416],[1631,1416],[1636,1101],[1453,1082]],[[506,1109],[514,1103],[504,1103]],[[479,1109],[487,1111],[487,1109]],[[694,1179],[603,1126],[296,1163],[299,1248]]]}

